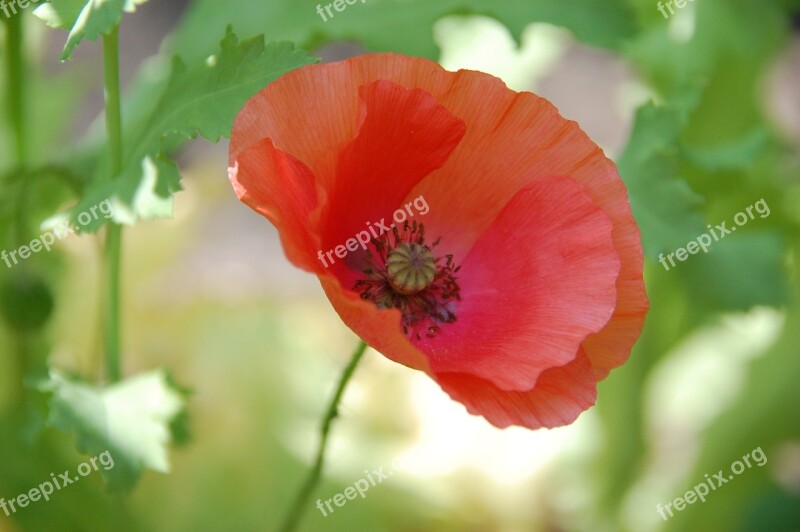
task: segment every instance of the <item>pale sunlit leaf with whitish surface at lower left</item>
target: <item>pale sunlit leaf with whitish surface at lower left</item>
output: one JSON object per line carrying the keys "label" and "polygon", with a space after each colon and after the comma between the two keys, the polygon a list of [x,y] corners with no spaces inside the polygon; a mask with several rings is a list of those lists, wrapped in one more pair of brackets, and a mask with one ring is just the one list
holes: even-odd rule
{"label": "pale sunlit leaf with whitish surface at lower left", "polygon": [[185,399],[166,372],[97,388],[52,370],[40,389],[51,393],[50,426],[74,432],[81,453],[111,454],[114,466],[101,473],[112,491],[133,488],[143,469],[169,471],[170,427],[183,413]]}

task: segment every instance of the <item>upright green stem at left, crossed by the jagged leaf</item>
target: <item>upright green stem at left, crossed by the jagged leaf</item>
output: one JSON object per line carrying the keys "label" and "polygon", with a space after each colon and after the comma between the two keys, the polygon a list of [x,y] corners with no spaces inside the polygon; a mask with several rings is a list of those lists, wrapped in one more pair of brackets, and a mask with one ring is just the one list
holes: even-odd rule
{"label": "upright green stem at left, crossed by the jagged leaf", "polygon": [[[103,36],[103,77],[106,98],[106,132],[111,160],[111,179],[122,171],[122,109],[119,84],[119,27]],[[104,297],[104,339],[106,370],[111,382],[120,380],[120,270],[122,227],[110,223],[105,247],[106,287]]]}

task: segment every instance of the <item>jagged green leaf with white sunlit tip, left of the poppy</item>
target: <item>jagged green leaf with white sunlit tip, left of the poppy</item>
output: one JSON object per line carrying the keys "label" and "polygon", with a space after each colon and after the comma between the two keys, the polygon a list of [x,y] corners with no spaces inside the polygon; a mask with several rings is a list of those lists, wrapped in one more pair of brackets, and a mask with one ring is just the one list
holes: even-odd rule
{"label": "jagged green leaf with white sunlit tip, left of the poppy", "polygon": [[[133,224],[138,219],[172,215],[173,194],[180,189],[176,165],[164,153],[177,141],[202,135],[212,142],[230,135],[245,102],[270,82],[316,60],[291,43],[264,44],[263,36],[239,42],[228,28],[215,56],[187,67],[175,58],[168,82],[125,143],[123,171],[113,181],[92,185],[73,209],[72,219],[109,199],[113,221]],[[106,222],[82,226],[95,231]]]}

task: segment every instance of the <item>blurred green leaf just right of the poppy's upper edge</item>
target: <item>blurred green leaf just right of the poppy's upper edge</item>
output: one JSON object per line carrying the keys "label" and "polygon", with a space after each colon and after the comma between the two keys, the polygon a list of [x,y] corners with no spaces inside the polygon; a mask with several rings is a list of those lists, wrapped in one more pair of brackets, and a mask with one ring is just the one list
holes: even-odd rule
{"label": "blurred green leaf just right of the poppy's upper edge", "polygon": [[681,154],[675,146],[684,123],[680,107],[641,107],[619,160],[645,254],[654,260],[705,231],[703,198],[679,176]]}

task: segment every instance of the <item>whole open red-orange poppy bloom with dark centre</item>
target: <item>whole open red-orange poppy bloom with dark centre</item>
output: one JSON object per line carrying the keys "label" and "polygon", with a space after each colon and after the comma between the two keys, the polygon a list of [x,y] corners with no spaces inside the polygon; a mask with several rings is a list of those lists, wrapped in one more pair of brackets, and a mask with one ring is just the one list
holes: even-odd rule
{"label": "whole open red-orange poppy bloom with dark centre", "polygon": [[641,332],[615,165],[490,75],[396,54],[294,70],[244,106],[229,166],[353,331],[495,426],[571,423]]}

